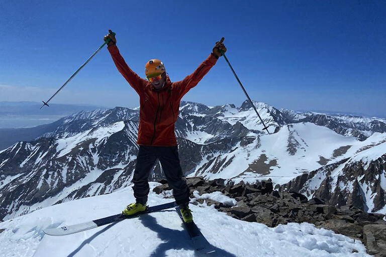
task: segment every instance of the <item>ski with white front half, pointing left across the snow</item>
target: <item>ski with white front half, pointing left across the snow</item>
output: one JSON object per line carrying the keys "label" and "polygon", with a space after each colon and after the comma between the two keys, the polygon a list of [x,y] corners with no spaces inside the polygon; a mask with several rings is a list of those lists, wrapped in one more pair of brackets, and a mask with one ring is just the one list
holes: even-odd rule
{"label": "ski with white front half, pointing left across the snow", "polygon": [[169,208],[173,208],[173,207],[174,207],[174,202],[170,202],[170,203],[165,203],[165,204],[147,207],[145,211],[138,212],[138,213],[131,215],[131,216],[125,216],[122,213],[120,213],[120,214],[112,215],[109,217],[95,219],[92,221],[74,224],[74,225],[70,225],[70,226],[62,226],[62,227],[57,227],[57,228],[46,228],[46,229],[43,229],[43,232],[47,235],[55,235],[55,236],[69,235],[69,234],[78,233],[78,232],[81,232],[84,230],[92,229],[95,227],[100,227],[103,225],[118,222],[118,221],[121,221],[124,219],[135,218],[135,217],[138,217],[142,214],[156,212],[156,211],[160,211],[160,210],[165,210],[165,209],[169,209]]}

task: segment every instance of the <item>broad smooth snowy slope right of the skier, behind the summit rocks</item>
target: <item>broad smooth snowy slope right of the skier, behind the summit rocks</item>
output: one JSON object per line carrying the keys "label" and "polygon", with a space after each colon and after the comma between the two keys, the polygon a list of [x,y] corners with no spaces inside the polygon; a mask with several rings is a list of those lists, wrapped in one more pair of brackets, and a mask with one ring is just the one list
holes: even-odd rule
{"label": "broad smooth snowy slope right of the skier, behind the summit rocks", "polygon": [[[386,133],[374,133],[365,141],[359,141],[310,122],[289,124],[275,134],[254,139],[251,144],[239,142],[227,153],[209,153],[192,175],[249,183],[271,178],[274,183],[283,184],[385,141]],[[342,148],[344,151],[339,151]]]}

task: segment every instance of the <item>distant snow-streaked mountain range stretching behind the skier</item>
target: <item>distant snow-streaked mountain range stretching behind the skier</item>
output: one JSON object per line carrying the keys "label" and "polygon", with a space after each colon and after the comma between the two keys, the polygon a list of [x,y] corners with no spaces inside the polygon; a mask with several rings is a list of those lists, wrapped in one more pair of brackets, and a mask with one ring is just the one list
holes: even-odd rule
{"label": "distant snow-streaked mountain range stretching behind the skier", "polygon": [[[386,141],[382,119],[254,104],[274,134],[261,131],[247,101],[240,107],[181,102],[176,135],[185,175],[246,182],[270,177],[284,184]],[[138,115],[138,109],[123,107],[82,111],[56,121],[35,141],[0,151],[0,218],[128,186],[138,151]],[[161,177],[156,164],[151,179]]]}

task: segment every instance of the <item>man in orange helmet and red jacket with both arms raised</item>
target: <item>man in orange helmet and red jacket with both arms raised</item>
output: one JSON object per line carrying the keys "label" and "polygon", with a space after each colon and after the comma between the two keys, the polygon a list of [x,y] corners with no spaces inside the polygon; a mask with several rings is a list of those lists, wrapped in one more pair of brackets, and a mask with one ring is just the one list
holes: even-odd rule
{"label": "man in orange helmet and red jacket with both arms raised", "polygon": [[189,189],[182,179],[179,165],[177,141],[174,135],[174,124],[178,117],[179,103],[190,88],[196,86],[205,74],[216,64],[217,59],[225,53],[223,41],[217,42],[213,52],[197,68],[195,72],[178,82],[171,82],[160,60],[152,59],[145,65],[147,80],[140,78],[126,64],[116,46],[115,36],[106,35],[108,50],[119,72],[139,95],[139,152],[133,177],[133,189],[136,202],[128,205],[124,215],[132,215],[146,209],[149,194],[148,177],[155,161],[161,163],[169,186],[173,189],[176,204],[181,207],[181,214],[185,222],[191,222],[193,217],[188,207]]}

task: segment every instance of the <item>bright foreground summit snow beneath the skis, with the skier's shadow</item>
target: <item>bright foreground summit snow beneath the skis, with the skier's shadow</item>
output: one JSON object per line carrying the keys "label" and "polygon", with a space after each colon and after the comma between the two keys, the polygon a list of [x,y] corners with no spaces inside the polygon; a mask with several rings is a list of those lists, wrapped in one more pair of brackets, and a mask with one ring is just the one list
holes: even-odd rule
{"label": "bright foreground summit snow beneath the skis, with the skier's shadow", "polygon": [[[151,183],[151,187],[155,185]],[[2,222],[0,229],[5,230],[0,233],[0,256],[197,256],[174,209],[67,236],[48,236],[42,231],[114,215],[133,201],[133,191],[127,187]],[[150,190],[149,205],[169,201]],[[206,204],[190,208],[202,233],[216,248],[212,256],[370,256],[359,240],[312,224],[269,228],[234,219]],[[352,253],[353,249],[358,252]]]}

